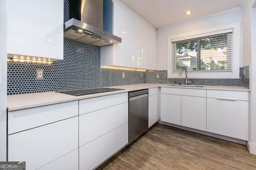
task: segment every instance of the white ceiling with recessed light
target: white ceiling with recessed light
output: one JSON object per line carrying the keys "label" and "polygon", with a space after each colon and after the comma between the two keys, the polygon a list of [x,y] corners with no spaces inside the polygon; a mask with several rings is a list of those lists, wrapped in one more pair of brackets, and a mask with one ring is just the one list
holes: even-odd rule
{"label": "white ceiling with recessed light", "polygon": [[[155,28],[240,7],[244,0],[120,0]],[[185,15],[186,11],[192,14]]]}

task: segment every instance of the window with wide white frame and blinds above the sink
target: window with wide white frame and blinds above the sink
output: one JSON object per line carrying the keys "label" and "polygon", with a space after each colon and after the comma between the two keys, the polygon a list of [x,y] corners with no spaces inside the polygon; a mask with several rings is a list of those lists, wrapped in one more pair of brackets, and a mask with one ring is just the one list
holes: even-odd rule
{"label": "window with wide white frame and blinds above the sink", "polygon": [[223,27],[168,37],[168,78],[239,78],[240,24]]}

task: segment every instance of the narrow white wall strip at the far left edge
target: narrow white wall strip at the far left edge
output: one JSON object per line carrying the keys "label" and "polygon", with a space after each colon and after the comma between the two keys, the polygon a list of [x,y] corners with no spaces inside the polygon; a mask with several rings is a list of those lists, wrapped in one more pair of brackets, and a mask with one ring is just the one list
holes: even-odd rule
{"label": "narrow white wall strip at the far left edge", "polygon": [[0,161],[6,161],[6,0],[0,0]]}

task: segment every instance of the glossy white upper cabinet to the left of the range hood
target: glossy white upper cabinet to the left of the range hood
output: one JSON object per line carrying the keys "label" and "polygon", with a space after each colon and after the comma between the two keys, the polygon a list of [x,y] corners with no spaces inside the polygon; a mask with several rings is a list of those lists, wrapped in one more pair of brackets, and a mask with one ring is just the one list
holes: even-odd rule
{"label": "glossy white upper cabinet to the left of the range hood", "polygon": [[8,0],[8,57],[63,59],[63,3],[63,0]]}

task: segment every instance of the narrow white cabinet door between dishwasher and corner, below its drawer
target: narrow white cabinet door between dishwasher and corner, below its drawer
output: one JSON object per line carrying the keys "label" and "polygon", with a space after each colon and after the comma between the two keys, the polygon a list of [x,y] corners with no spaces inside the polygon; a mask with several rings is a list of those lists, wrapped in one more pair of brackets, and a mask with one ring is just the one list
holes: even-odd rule
{"label": "narrow white cabinet door between dishwasher and corner, below its drawer", "polygon": [[151,127],[159,120],[159,99],[158,94],[148,96],[148,127]]}

